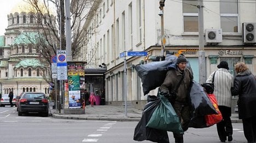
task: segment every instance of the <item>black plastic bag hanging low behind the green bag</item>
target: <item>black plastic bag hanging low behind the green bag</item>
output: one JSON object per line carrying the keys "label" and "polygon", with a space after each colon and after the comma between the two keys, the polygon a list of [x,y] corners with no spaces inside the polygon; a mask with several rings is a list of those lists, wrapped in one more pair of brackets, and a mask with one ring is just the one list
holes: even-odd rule
{"label": "black plastic bag hanging low behind the green bag", "polygon": [[136,140],[136,141],[150,140],[153,142],[162,142],[162,143],[169,142],[167,131],[146,127],[155,108],[158,106],[160,102],[161,100],[158,98],[157,100],[149,102],[145,105],[144,110],[142,112],[141,120],[138,122],[137,126],[135,127],[133,140]]}

